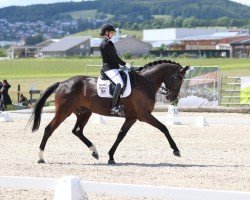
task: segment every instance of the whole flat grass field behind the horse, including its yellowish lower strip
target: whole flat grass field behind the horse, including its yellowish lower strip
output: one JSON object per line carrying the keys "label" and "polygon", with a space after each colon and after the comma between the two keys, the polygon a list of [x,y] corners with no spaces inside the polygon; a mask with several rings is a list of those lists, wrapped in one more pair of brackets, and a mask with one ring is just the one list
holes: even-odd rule
{"label": "whole flat grass field behind the horse, including its yellowish lower strip", "polygon": [[[125,60],[125,59],[124,59]],[[135,66],[142,66],[155,59],[134,59]],[[222,76],[250,76],[250,59],[172,59],[181,65],[219,66]],[[126,60],[128,62],[133,61]],[[0,60],[0,80],[12,85],[11,97],[17,100],[17,85],[28,96],[30,88],[45,90],[57,81],[75,75],[86,75],[86,65],[100,65],[101,58],[46,58]],[[88,75],[98,76],[99,67],[89,67]]]}

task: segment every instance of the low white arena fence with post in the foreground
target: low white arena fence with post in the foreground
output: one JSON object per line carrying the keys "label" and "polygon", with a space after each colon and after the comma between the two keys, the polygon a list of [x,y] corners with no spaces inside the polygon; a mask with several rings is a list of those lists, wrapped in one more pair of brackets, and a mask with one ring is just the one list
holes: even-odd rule
{"label": "low white arena fence with post in the foreground", "polygon": [[169,198],[175,200],[250,199],[250,192],[98,183],[80,181],[77,177],[62,177],[61,179],[55,179],[1,176],[0,187],[55,190],[54,200],[85,200],[87,199],[85,192],[113,196]]}

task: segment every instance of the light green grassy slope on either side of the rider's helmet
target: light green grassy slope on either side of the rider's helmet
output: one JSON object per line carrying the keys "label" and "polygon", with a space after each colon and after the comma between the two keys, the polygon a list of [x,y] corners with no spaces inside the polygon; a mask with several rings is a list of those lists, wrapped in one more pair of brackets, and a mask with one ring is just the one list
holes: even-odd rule
{"label": "light green grassy slope on either side of the rider's helmet", "polygon": [[[129,36],[135,36],[137,39],[142,40],[142,30],[125,30],[125,29],[121,29],[121,34],[122,35],[129,35]],[[79,33],[76,33],[74,35],[77,36],[81,36],[81,35],[89,35],[92,37],[100,37],[100,30],[99,29],[91,29],[91,30],[86,30],[86,31],[82,31]]]}

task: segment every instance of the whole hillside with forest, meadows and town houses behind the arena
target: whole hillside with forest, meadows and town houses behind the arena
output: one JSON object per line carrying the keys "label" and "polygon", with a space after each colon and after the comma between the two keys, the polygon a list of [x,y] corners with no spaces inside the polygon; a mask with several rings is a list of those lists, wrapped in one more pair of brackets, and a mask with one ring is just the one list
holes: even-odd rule
{"label": "whole hillside with forest, meadows and town houses behind the arena", "polygon": [[107,22],[123,30],[250,28],[250,7],[229,0],[95,0],[11,6],[0,9],[0,41],[34,35],[61,38],[99,29]]}

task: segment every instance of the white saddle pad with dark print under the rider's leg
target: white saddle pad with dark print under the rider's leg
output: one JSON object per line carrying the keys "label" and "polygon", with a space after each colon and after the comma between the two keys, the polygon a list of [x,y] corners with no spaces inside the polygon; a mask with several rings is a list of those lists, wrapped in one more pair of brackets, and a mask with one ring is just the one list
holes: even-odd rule
{"label": "white saddle pad with dark print under the rider's leg", "polygon": [[[120,95],[121,98],[128,97],[131,93],[131,83],[128,75],[128,71],[124,71],[127,75],[127,86],[125,91]],[[100,77],[97,80],[97,94],[99,97],[112,98],[110,95],[109,86],[112,82],[110,80],[102,80]]]}

